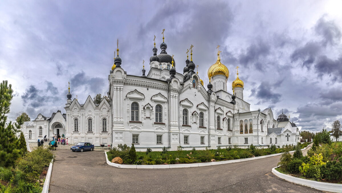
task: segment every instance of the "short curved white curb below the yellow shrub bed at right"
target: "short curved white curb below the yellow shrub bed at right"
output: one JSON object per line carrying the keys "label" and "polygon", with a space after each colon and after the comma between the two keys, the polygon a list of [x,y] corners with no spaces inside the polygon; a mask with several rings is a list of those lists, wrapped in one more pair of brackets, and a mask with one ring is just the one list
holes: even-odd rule
{"label": "short curved white curb below the yellow shrub bed at right", "polygon": [[[277,168],[277,167],[275,167]],[[339,192],[342,193],[342,184],[336,184],[336,183],[327,183],[327,182],[318,182],[314,180],[307,180],[303,178],[297,178],[290,175],[286,175],[283,173],[280,173],[275,168],[272,168],[272,173],[276,175],[278,178],[284,179],[286,181],[300,184],[306,187],[314,188],[321,191],[328,191],[328,192]]]}

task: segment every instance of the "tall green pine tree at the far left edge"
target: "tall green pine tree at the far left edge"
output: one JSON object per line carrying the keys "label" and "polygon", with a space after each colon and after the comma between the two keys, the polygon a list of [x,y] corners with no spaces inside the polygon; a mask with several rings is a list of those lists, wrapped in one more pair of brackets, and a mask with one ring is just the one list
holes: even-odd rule
{"label": "tall green pine tree at the far left edge", "polygon": [[6,124],[7,115],[10,112],[13,98],[12,85],[7,81],[0,83],[0,167],[13,166],[20,156],[19,140],[15,135],[12,122]]}

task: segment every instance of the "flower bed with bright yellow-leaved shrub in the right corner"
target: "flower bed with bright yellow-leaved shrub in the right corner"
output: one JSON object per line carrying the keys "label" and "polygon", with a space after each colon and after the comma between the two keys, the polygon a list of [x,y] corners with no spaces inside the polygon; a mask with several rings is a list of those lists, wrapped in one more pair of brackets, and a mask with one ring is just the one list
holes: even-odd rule
{"label": "flower bed with bright yellow-leaved shrub in the right corner", "polygon": [[308,151],[307,156],[286,155],[280,159],[277,171],[294,177],[342,183],[342,143],[321,143]]}

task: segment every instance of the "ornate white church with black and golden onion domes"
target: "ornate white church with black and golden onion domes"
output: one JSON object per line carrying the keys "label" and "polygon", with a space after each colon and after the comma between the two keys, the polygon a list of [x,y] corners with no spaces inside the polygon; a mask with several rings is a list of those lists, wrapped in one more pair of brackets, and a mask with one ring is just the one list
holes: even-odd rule
{"label": "ornate white church with black and golden onion domes", "polygon": [[[71,100],[69,90],[65,113],[58,110],[50,117],[38,114],[35,120],[25,122],[24,132],[31,140],[64,134],[69,143],[91,142],[95,146],[134,143],[138,151],[146,148],[158,151],[163,147],[176,150],[177,146],[267,147],[299,142],[299,130],[285,114],[275,119],[271,108],[250,110],[238,71],[232,90],[227,89],[229,70],[221,63],[220,51],[216,63],[208,70],[210,82],[205,88],[194,71],[192,47],[190,60],[177,65],[166,52],[164,37],[160,49],[157,55],[157,48],[153,47],[149,72],[145,74],[143,66],[142,76],[125,71],[125,62],[117,49],[108,75],[109,102],[94,104],[89,96],[80,104],[76,99]],[[183,68],[183,73],[177,72],[176,66]]]}

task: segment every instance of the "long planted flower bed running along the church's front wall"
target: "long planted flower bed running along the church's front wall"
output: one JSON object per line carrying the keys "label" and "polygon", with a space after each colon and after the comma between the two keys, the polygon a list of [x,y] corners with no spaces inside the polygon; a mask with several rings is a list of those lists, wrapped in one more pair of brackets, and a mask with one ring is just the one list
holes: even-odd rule
{"label": "long planted flower bed running along the church's front wall", "polygon": [[[308,144],[310,143],[301,144],[300,148],[306,147]],[[182,147],[179,146],[177,151],[168,151],[167,148],[163,148],[161,152],[152,152],[148,148],[146,152],[136,152],[134,155],[131,151],[132,148],[119,144],[118,148],[107,152],[107,156],[109,161],[114,157],[121,157],[123,164],[133,165],[189,164],[212,162],[213,159],[215,161],[229,161],[271,155],[281,153],[285,148],[272,145],[267,149],[261,149],[251,145],[247,149],[240,149],[235,146],[216,150],[196,150],[195,148],[193,150],[182,150]],[[288,148],[293,150],[294,146]]]}

